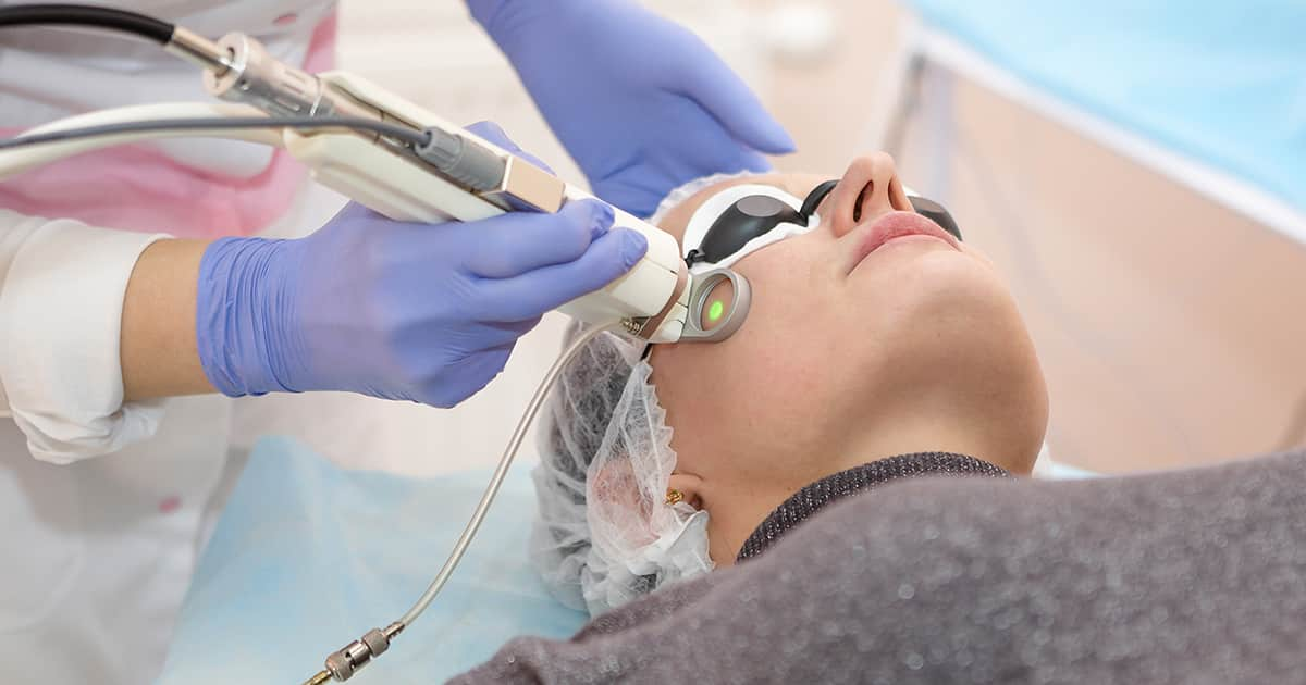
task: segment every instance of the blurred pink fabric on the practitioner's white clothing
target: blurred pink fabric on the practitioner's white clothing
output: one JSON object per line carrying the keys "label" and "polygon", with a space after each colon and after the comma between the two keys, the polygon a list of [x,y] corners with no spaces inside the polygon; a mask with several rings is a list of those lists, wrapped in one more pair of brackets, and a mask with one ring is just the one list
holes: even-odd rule
{"label": "blurred pink fabric on the practitioner's white clothing", "polygon": [[[320,72],[334,63],[336,23],[333,14],[315,29],[306,70]],[[132,145],[77,155],[7,180],[0,184],[0,206],[178,237],[252,235],[285,214],[304,175],[303,166],[283,150],[259,175],[234,177]]]}

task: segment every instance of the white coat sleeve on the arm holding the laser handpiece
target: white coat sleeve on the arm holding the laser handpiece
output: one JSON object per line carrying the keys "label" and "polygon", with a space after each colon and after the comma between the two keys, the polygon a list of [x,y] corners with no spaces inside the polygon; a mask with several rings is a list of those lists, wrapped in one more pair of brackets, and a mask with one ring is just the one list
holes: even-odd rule
{"label": "white coat sleeve on the arm holding the laser handpiece", "polygon": [[154,434],[161,402],[123,403],[127,281],[163,235],[0,209],[0,402],[37,459],[72,463]]}

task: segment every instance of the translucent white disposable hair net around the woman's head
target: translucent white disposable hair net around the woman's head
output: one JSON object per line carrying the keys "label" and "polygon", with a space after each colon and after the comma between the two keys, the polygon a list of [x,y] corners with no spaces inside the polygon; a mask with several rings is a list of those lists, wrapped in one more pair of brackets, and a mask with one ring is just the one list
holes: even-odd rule
{"label": "translucent white disposable hair net around the woman's head", "polygon": [[675,451],[643,344],[594,338],[558,380],[541,427],[530,556],[560,601],[592,615],[712,570],[707,511],[666,504]]}

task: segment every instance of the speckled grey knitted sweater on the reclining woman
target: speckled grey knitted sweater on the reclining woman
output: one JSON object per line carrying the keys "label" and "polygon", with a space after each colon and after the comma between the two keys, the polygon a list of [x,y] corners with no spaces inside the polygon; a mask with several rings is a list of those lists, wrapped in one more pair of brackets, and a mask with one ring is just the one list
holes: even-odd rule
{"label": "speckled grey knitted sweater on the reclining woman", "polygon": [[836,500],[453,682],[1306,682],[1306,454]]}

